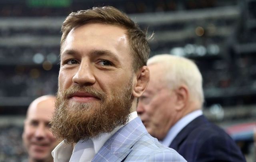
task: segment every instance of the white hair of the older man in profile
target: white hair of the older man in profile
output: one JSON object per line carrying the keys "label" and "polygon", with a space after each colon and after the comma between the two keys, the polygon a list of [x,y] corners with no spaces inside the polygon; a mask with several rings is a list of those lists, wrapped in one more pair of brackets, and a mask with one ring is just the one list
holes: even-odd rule
{"label": "white hair of the older man in profile", "polygon": [[188,58],[170,54],[159,54],[148,59],[148,65],[159,64],[159,70],[165,75],[166,83],[175,89],[185,84],[190,97],[197,99],[201,106],[204,102],[202,75],[194,62]]}

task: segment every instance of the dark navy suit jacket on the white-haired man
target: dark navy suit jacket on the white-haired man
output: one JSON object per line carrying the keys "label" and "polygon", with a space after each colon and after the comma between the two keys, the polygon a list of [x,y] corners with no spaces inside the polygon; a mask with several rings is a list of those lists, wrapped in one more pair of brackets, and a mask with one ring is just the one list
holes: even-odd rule
{"label": "dark navy suit jacket on the white-haired man", "polygon": [[245,162],[234,140],[203,115],[185,126],[170,144],[188,162]]}

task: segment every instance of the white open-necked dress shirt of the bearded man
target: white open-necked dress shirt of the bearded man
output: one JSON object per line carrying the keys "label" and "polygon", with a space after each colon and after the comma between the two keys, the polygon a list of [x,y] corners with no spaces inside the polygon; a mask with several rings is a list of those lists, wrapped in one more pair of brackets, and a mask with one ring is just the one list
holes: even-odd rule
{"label": "white open-necked dress shirt of the bearded man", "polygon": [[[129,115],[129,120],[138,117],[137,112],[132,112]],[[64,141],[60,142],[52,151],[54,162],[90,162],[104,145],[104,143],[118,131],[122,126],[115,128],[111,133],[104,133],[99,138],[91,138],[86,141],[80,140],[74,146],[66,144]]]}

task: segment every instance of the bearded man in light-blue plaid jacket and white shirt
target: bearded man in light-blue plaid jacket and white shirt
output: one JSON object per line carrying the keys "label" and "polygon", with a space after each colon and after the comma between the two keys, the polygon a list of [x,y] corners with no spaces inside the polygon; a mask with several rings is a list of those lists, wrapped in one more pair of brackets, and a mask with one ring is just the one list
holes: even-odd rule
{"label": "bearded man in light-blue plaid jacket and white shirt", "polygon": [[150,77],[146,34],[110,6],[71,13],[62,33],[54,161],[185,161],[136,113]]}

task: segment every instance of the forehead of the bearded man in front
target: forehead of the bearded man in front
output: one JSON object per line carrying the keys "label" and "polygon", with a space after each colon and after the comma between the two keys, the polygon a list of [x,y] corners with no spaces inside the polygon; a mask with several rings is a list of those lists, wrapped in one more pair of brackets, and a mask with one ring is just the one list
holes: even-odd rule
{"label": "forehead of the bearded man in front", "polygon": [[65,49],[106,48],[110,50],[128,48],[129,41],[126,29],[117,25],[88,23],[73,28],[62,45]]}

